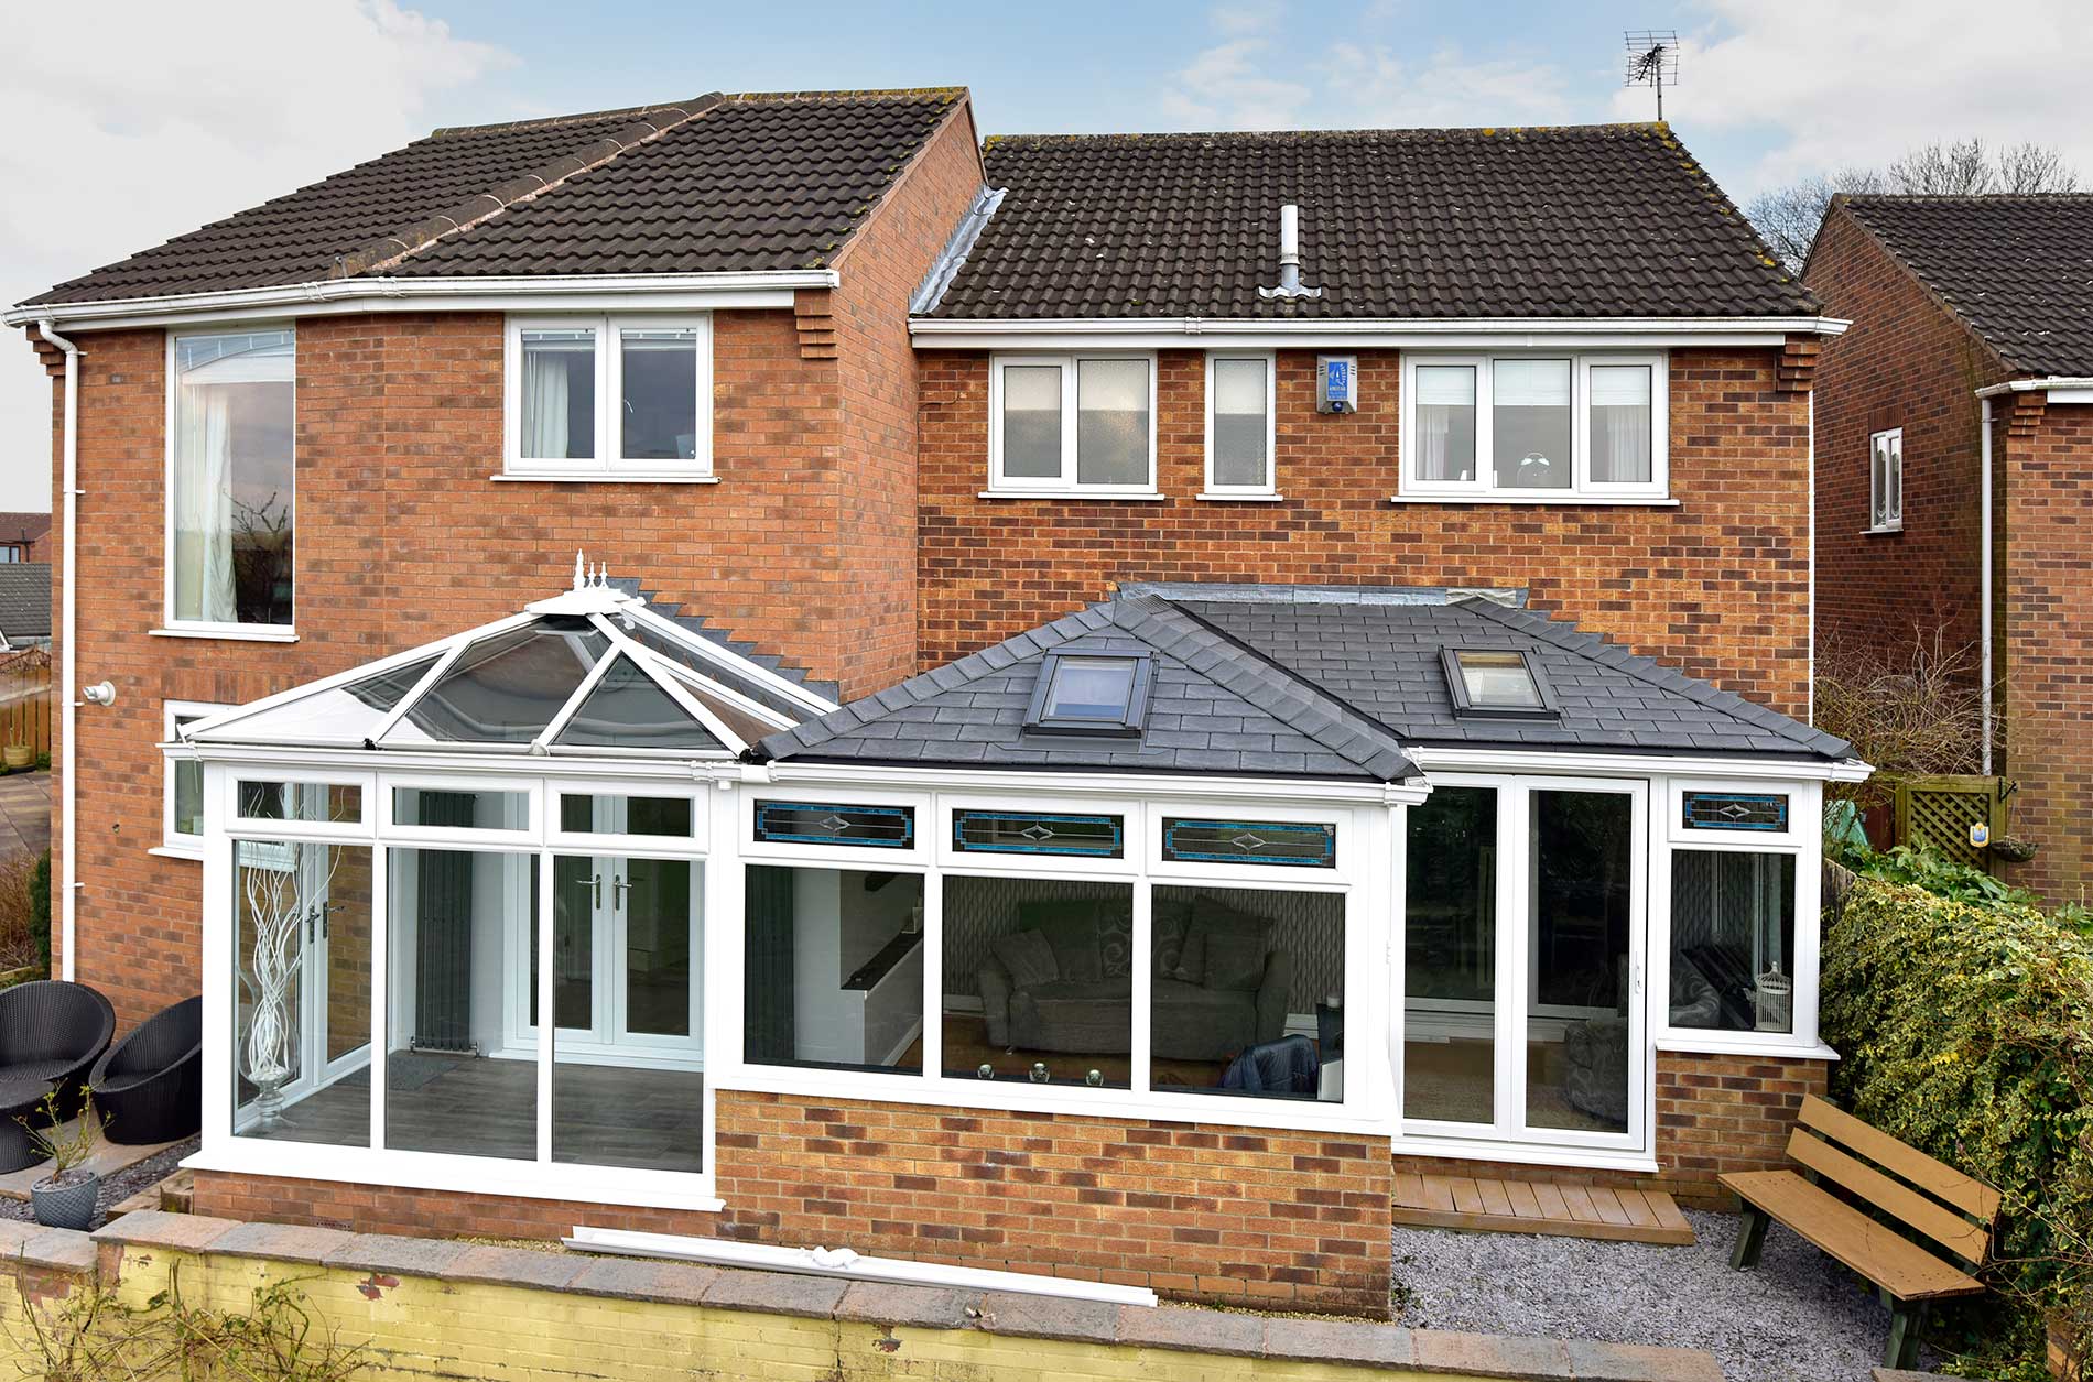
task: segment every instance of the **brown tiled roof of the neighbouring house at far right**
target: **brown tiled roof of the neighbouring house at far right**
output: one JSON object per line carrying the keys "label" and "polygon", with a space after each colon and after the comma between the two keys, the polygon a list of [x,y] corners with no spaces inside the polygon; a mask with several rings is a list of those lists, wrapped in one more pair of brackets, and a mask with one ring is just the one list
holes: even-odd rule
{"label": "brown tiled roof of the neighbouring house at far right", "polygon": [[2093,194],[1846,197],[1846,211],[2028,374],[2093,374]]}

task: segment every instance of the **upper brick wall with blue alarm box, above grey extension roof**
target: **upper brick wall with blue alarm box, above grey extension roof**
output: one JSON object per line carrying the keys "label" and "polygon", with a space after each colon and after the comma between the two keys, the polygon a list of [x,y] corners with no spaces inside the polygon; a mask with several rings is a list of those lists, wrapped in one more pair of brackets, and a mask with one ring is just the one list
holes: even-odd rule
{"label": "upper brick wall with blue alarm box, above grey extension roof", "polygon": [[1400,358],[1358,353],[1356,414],[1314,412],[1314,351],[1279,351],[1281,504],[1201,502],[1199,351],[1157,358],[1157,502],[980,500],[988,355],[927,351],[925,667],[1120,581],[1524,585],[1536,608],[1800,715],[1808,696],[1808,395],[1779,349],[1672,351],[1676,508],[1390,504]]}

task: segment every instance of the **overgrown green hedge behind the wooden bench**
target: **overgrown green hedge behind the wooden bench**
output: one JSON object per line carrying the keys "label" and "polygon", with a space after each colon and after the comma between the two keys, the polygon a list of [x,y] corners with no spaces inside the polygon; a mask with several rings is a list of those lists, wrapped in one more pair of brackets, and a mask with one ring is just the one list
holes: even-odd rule
{"label": "overgrown green hedge behind the wooden bench", "polygon": [[2093,947],[2055,918],[1856,878],[1825,918],[1833,1087],[2005,1196],[1990,1280],[2043,1313],[2093,1300]]}

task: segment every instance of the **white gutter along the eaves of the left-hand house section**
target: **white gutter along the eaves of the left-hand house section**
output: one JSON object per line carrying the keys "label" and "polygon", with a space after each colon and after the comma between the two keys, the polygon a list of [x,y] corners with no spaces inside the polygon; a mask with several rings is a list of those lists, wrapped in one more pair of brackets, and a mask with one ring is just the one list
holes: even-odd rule
{"label": "white gutter along the eaves of the left-hand house section", "polygon": [[[481,276],[481,278],[327,278],[268,289],[228,289],[222,293],[174,293],[163,297],[123,297],[100,303],[46,303],[15,307],[0,324],[63,318],[69,328],[138,326],[167,318],[211,314],[264,314],[278,309],[310,312],[316,305],[356,303],[360,309],[471,309],[490,299],[576,299],[586,295],[666,297],[703,295],[768,295],[797,289],[833,289],[841,282],[835,270],[756,270],[745,274],[544,274],[544,276]],[[540,303],[542,305],[542,303]]]}

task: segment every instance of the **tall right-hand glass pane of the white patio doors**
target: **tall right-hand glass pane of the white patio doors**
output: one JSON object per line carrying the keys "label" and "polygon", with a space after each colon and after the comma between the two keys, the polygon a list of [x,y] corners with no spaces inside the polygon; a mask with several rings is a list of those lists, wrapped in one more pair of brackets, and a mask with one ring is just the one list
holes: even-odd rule
{"label": "tall right-hand glass pane of the white patio doors", "polygon": [[1628,1131],[1633,834],[1626,792],[1532,794],[1528,1127]]}

